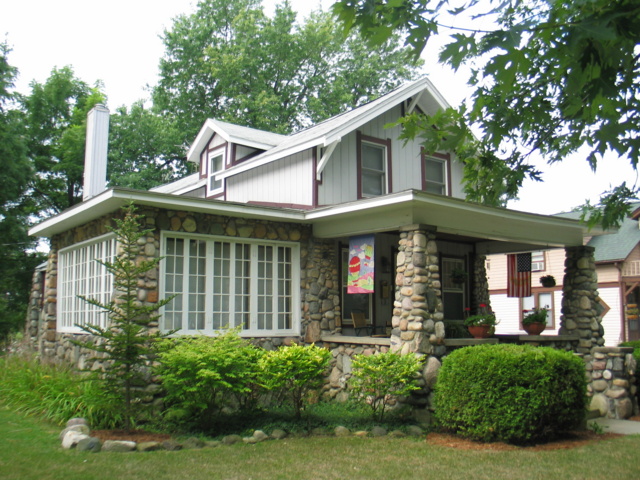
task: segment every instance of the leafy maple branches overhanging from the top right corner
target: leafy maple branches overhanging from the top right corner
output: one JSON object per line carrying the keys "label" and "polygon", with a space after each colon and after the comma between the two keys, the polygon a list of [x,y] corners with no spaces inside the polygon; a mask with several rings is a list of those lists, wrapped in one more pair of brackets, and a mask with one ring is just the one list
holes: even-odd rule
{"label": "leafy maple branches overhanging from the top right corner", "polygon": [[[447,142],[459,150],[474,198],[504,202],[524,178],[540,179],[533,152],[552,163],[586,147],[594,170],[606,152],[637,167],[637,0],[339,0],[334,12],[347,31],[373,43],[403,32],[416,55],[435,35],[452,33],[440,59],[471,68],[471,102],[406,124],[428,147]],[[465,16],[470,28],[456,28]],[[480,141],[465,125],[479,127]],[[637,193],[637,185],[614,188],[592,220],[615,224]]]}

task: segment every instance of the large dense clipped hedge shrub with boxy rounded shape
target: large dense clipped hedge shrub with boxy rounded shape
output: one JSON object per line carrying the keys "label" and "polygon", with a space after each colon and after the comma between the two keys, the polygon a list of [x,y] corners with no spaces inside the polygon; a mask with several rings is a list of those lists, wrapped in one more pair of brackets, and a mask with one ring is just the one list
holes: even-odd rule
{"label": "large dense clipped hedge shrub with boxy rounded shape", "polygon": [[436,385],[440,425],[482,441],[550,438],[579,427],[585,407],[583,361],[546,347],[461,348],[445,358]]}

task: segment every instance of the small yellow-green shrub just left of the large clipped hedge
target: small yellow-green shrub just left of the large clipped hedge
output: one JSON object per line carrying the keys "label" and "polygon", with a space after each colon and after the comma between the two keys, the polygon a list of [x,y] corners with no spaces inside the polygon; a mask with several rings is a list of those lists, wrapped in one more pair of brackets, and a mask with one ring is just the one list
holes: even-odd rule
{"label": "small yellow-green shrub just left of the large clipped hedge", "polygon": [[422,359],[415,355],[386,352],[353,357],[349,385],[357,401],[371,408],[374,418],[382,421],[385,409],[398,396],[418,390]]}

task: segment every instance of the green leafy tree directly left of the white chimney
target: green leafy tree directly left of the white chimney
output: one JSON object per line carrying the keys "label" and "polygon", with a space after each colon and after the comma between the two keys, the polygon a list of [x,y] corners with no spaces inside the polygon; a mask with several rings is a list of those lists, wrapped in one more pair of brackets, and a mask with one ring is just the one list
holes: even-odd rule
{"label": "green leafy tree directly left of the white chimney", "polygon": [[32,82],[23,99],[28,154],[37,173],[30,188],[41,215],[82,200],[87,113],[105,103],[100,88],[76,78],[71,67],[55,68],[44,84]]}

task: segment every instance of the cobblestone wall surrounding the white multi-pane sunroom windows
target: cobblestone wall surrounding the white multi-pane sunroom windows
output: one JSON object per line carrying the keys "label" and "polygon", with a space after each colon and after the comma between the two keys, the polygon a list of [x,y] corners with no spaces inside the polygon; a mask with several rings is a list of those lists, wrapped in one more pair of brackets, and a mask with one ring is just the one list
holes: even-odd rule
{"label": "cobblestone wall surrounding the white multi-pane sunroom windows", "polygon": [[[161,231],[299,243],[301,335],[287,339],[256,338],[253,339],[256,344],[270,350],[291,341],[313,343],[320,341],[322,334],[334,333],[339,328],[341,313],[338,250],[332,241],[312,239],[309,226],[147,207],[139,207],[137,213],[144,218],[143,228],[151,230],[147,237],[140,240],[140,260],[156,258],[160,255]],[[88,354],[89,351],[84,352],[78,349],[70,341],[79,336],[62,334],[56,330],[57,252],[62,248],[108,233],[108,226],[113,226],[113,219],[116,216],[120,218],[122,213],[106,215],[51,239],[44,284],[41,281],[37,282],[34,276],[32,292],[34,308],[31,309],[28,322],[32,345],[46,361],[70,362],[76,366],[94,368],[88,360],[93,356],[93,352]],[[140,302],[154,305],[158,301],[158,277],[159,272],[154,269],[139,279],[138,300]],[[153,323],[150,324],[150,328],[157,329],[159,325]],[[89,338],[87,335],[80,337]]]}

